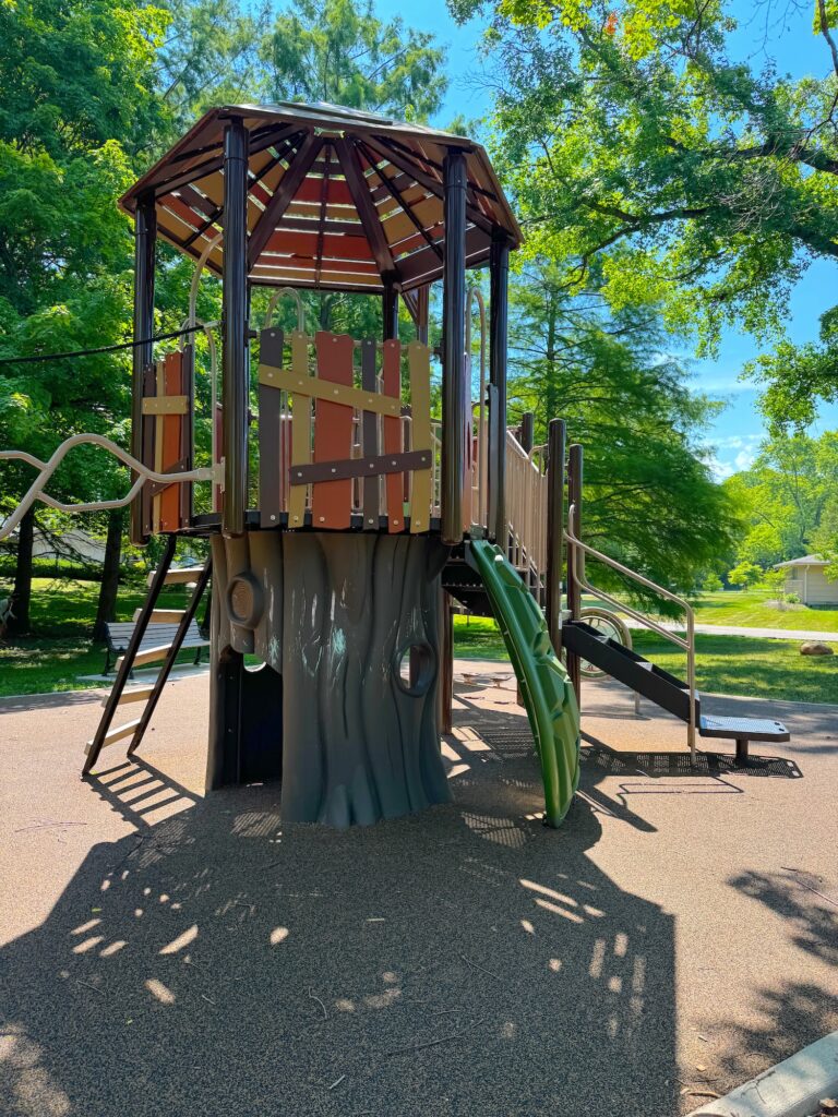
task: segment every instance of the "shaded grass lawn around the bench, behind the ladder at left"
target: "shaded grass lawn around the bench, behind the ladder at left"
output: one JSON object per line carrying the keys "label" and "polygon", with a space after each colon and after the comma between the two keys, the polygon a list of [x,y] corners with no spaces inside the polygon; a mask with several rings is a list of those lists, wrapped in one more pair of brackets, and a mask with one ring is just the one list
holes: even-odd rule
{"label": "shaded grass lawn around the bench, behind the ladder at left", "polygon": [[[79,675],[101,675],[105,666],[104,643],[94,643],[89,636],[98,590],[95,582],[32,581],[34,634],[0,643],[0,697],[103,686],[78,679]],[[121,588],[116,619],[130,621],[143,598],[142,585]],[[161,608],[183,609],[185,603],[182,585],[166,586],[160,595]],[[194,651],[182,652],[180,658],[189,662]]]}

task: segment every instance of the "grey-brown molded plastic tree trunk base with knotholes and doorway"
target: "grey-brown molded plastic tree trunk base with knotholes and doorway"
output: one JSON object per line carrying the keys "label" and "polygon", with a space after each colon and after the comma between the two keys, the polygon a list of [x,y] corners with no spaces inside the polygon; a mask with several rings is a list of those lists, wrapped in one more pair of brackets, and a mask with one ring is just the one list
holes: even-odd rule
{"label": "grey-brown molded plastic tree trunk base with knotholes and doorway", "polygon": [[448,802],[437,698],[447,554],[425,536],[213,540],[209,785],[253,773],[249,752],[265,755],[264,718],[248,731],[248,695],[264,704],[267,679],[257,690],[236,656],[255,652],[268,678],[282,676],[282,724],[268,736],[282,750],[286,821],[345,827]]}

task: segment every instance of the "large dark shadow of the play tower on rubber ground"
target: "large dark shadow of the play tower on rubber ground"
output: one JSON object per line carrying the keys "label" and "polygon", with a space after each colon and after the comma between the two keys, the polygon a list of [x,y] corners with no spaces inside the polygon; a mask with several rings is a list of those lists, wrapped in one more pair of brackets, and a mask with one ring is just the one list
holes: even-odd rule
{"label": "large dark shadow of the play tower on rubber ground", "polygon": [[589,856],[600,773],[551,831],[531,757],[450,747],[453,804],[347,831],[103,773],[137,829],[1,952],[0,1111],[677,1113],[673,918]]}

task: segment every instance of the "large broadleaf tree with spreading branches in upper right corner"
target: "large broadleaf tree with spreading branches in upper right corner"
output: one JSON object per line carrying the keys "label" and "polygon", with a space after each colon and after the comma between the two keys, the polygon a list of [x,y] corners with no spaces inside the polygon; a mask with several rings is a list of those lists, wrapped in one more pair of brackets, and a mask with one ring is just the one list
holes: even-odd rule
{"label": "large broadleaf tree with spreading branches in upper right corner", "polygon": [[[456,16],[479,0],[449,0]],[[782,337],[791,286],[838,258],[838,8],[817,0],[823,78],[761,71],[721,0],[498,0],[496,154],[528,251],[616,309],[660,305],[713,352],[725,325]],[[769,49],[771,44],[768,45]],[[838,398],[835,312],[820,345],[754,370],[778,428]]]}

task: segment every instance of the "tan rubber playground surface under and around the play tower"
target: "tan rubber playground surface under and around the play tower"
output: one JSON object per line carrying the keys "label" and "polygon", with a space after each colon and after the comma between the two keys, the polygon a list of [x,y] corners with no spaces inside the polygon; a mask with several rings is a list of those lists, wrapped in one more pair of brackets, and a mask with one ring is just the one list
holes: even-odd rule
{"label": "tan rubber playground surface under and around the play tower", "polygon": [[453,803],[341,832],[203,799],[207,675],[91,782],[102,693],[0,705],[0,1113],[675,1117],[838,1028],[838,707],[717,703],[792,739],[691,770],[589,684],[551,831],[503,665],[458,671]]}

